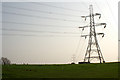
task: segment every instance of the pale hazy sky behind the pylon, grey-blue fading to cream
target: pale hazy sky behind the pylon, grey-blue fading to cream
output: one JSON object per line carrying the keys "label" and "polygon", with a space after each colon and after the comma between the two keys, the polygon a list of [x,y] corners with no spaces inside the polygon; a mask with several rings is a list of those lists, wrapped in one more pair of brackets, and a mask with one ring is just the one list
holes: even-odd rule
{"label": "pale hazy sky behind the pylon, grey-blue fading to cream", "polygon": [[118,2],[114,0],[80,0],[79,2],[4,2],[2,3],[2,56],[12,63],[69,63],[72,55],[76,62],[83,61],[87,39],[80,35],[79,26],[89,25],[80,16],[101,13],[107,27],[96,27],[99,45],[105,61],[118,60]]}

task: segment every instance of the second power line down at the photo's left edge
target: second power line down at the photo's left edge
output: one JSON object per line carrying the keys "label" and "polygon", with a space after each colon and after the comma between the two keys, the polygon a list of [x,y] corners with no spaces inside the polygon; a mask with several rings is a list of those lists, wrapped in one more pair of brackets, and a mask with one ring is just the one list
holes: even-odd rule
{"label": "second power line down at the photo's left edge", "polygon": [[42,17],[42,16],[35,16],[35,15],[29,15],[29,14],[20,14],[20,13],[14,13],[14,12],[6,12],[6,11],[3,11],[3,13],[5,13],[5,14],[12,14],[12,15],[26,16],[26,17],[50,19],[50,20],[52,19],[52,20],[60,20],[60,21],[80,22],[80,21],[76,21],[76,20],[66,20],[66,19],[59,19],[59,18]]}

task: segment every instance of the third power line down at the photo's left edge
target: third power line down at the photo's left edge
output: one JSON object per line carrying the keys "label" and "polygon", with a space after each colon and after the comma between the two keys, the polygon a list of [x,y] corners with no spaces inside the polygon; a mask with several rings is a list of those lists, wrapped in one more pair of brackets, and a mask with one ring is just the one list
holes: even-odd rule
{"label": "third power line down at the photo's left edge", "polygon": [[46,24],[32,24],[32,23],[24,23],[24,22],[11,22],[11,21],[2,21],[2,23],[10,23],[10,24],[24,24],[24,25],[35,25],[35,26],[46,26],[46,27],[57,27],[57,28],[75,28],[70,26],[59,26],[59,25],[46,25]]}

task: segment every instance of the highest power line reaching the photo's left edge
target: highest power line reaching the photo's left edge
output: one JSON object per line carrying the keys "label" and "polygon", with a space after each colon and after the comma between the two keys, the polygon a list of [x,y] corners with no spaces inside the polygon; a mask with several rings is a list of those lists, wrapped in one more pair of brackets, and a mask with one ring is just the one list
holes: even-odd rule
{"label": "highest power line reaching the photo's left edge", "polygon": [[26,11],[35,11],[35,12],[41,12],[41,13],[48,13],[48,14],[56,14],[56,15],[70,16],[70,17],[81,17],[81,16],[72,15],[72,14],[64,14],[64,13],[56,13],[56,12],[50,12],[50,11],[26,9],[26,8],[14,7],[14,6],[3,6],[3,7],[21,9],[21,10],[26,10]]}

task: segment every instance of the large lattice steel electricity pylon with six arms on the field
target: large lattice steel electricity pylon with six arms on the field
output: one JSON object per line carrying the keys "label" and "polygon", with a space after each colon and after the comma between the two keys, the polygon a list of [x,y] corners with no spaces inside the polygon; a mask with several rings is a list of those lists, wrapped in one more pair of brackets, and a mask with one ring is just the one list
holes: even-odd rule
{"label": "large lattice steel electricity pylon with six arms on the field", "polygon": [[[85,53],[84,62],[90,63],[90,61],[92,59],[96,58],[100,61],[100,63],[105,63],[105,60],[103,58],[103,55],[102,55],[102,52],[100,50],[100,46],[99,46],[98,40],[97,40],[97,35],[102,35],[102,37],[104,37],[104,33],[96,33],[95,27],[104,25],[104,28],[105,28],[106,23],[95,24],[94,17],[99,16],[99,19],[100,19],[101,14],[100,13],[95,13],[94,14],[92,5],[89,6],[89,11],[90,11],[90,14],[88,16],[81,16],[81,17],[85,18],[85,21],[86,21],[87,17],[89,17],[90,18],[90,25],[79,27],[79,28],[82,28],[82,30],[84,30],[84,28],[87,28],[87,27],[90,28],[89,35],[81,35],[81,37],[85,37],[85,38],[87,36],[89,36],[89,41],[88,41],[88,46],[87,46],[87,50],[86,50],[86,53]],[[96,55],[93,56],[93,53],[96,54],[97,56]]]}

